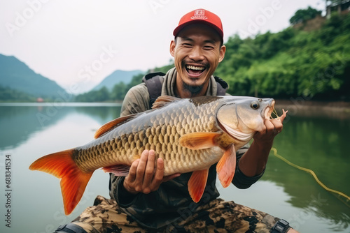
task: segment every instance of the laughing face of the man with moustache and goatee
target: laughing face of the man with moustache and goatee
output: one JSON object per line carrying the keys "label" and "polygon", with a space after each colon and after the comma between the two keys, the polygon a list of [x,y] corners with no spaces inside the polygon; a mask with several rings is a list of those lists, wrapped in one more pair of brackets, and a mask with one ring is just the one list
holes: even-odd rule
{"label": "laughing face of the man with moustache and goatee", "polygon": [[[183,89],[197,95],[204,95],[209,79],[225,56],[225,46],[221,46],[218,33],[204,24],[190,24],[183,28],[170,45],[175,67],[183,82]],[[179,85],[178,85],[179,88]],[[195,95],[195,96],[197,96]]]}

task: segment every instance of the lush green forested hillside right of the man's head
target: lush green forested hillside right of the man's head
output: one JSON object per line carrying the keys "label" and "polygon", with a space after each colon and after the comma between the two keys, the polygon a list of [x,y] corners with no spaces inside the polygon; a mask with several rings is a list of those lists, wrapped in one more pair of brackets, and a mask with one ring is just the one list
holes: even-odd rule
{"label": "lush green forested hillside right of the man's head", "polygon": [[216,75],[230,84],[232,94],[350,99],[349,14],[332,14],[314,31],[301,25],[254,39],[232,36],[225,45]]}

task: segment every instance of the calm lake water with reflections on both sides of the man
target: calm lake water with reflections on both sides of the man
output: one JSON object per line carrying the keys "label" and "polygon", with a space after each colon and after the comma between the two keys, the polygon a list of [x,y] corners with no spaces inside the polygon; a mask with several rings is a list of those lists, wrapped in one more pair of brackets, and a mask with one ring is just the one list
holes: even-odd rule
{"label": "calm lake water with reflections on both sides of the man", "polygon": [[[277,153],[313,170],[328,188],[350,195],[350,114],[289,107],[283,133],[274,142]],[[119,114],[120,106],[113,104],[0,105],[0,232],[52,232],[92,205],[97,195],[109,197],[109,175],[98,170],[77,208],[65,216],[59,179],[28,167],[48,153],[90,142],[102,124]],[[222,188],[218,182],[218,189],[221,198],[284,218],[300,232],[350,232],[350,202],[273,153],[264,176],[251,188]]]}

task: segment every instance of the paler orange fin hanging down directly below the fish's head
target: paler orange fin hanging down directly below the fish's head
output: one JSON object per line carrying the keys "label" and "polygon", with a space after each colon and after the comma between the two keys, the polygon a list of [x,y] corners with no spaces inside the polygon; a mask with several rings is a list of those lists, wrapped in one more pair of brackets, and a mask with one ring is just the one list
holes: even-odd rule
{"label": "paler orange fin hanging down directly below the fish's head", "polygon": [[226,149],[223,157],[218,161],[216,165],[216,172],[218,173],[218,179],[220,180],[223,188],[226,188],[232,182],[233,176],[236,170],[236,149],[235,145],[231,144]]}

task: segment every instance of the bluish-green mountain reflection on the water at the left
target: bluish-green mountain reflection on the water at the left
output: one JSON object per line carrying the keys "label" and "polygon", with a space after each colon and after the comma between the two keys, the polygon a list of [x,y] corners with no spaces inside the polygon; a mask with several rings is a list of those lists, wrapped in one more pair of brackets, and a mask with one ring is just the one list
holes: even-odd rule
{"label": "bluish-green mountain reflection on the water at the left", "polygon": [[119,117],[120,107],[0,106],[0,149],[15,148],[33,133],[55,125],[74,112],[86,114],[104,124]]}

